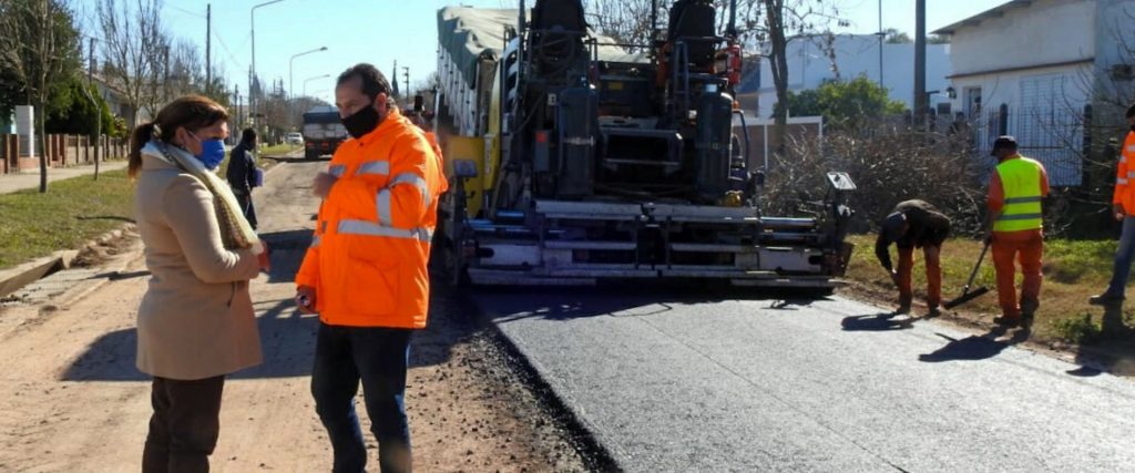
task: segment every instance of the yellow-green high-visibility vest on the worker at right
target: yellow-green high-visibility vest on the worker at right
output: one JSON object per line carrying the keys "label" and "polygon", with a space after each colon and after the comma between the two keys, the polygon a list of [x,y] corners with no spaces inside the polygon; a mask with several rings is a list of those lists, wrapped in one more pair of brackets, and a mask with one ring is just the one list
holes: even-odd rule
{"label": "yellow-green high-visibility vest on the worker at right", "polygon": [[1044,195],[1041,163],[1024,157],[1007,159],[998,164],[997,174],[1004,192],[1004,205],[993,222],[993,231],[1041,229],[1041,200]]}

